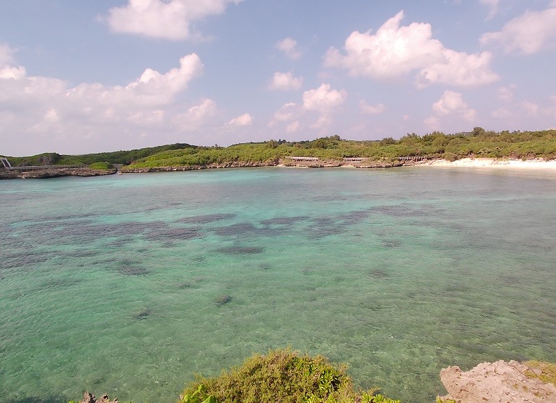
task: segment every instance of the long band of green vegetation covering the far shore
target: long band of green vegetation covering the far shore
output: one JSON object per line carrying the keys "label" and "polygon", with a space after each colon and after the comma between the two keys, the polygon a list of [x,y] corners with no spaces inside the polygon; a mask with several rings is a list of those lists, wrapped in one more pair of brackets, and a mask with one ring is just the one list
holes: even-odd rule
{"label": "long band of green vegetation covering the far shore", "polygon": [[556,130],[486,131],[475,127],[467,133],[444,134],[439,131],[423,136],[415,133],[400,140],[343,140],[338,135],[311,141],[268,140],[231,145],[200,147],[188,144],[163,145],[100,154],[67,156],[56,153],[28,157],[8,157],[12,165],[74,165],[111,163],[130,168],[180,167],[234,164],[273,165],[286,156],[318,157],[341,160],[344,157],[392,161],[400,156],[426,156],[455,161],[465,157],[556,158]]}

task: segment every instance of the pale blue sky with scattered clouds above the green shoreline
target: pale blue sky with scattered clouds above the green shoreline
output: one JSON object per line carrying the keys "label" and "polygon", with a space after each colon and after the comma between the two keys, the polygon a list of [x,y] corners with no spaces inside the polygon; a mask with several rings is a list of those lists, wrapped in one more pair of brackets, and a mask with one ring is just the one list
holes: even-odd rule
{"label": "pale blue sky with scattered clouds above the green shoreline", "polygon": [[0,154],[556,126],[556,0],[0,1]]}

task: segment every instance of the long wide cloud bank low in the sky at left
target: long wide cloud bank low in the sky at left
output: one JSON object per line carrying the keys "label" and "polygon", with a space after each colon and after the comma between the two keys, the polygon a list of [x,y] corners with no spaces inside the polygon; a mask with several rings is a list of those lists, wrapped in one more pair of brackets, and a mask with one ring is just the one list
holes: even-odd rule
{"label": "long wide cloud bank low in the sky at left", "polygon": [[117,142],[116,138],[136,137],[147,129],[156,129],[156,133],[177,127],[183,130],[187,122],[198,125],[213,106],[213,101],[204,100],[186,116],[176,102],[177,94],[186,90],[202,69],[199,56],[190,54],[179,60],[179,67],[163,74],[145,69],[128,85],[70,86],[59,79],[28,76],[24,67],[8,65],[0,71],[0,135],[18,133],[21,138],[33,138],[34,147],[41,147],[40,142],[48,147],[49,138],[85,147],[87,139]]}

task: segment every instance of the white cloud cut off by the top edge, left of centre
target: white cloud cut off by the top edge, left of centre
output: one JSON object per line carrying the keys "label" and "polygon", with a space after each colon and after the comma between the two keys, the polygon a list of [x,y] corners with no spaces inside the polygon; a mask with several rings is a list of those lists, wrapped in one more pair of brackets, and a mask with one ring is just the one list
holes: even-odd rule
{"label": "white cloud cut off by the top edge, left of centre", "polygon": [[125,6],[108,10],[114,32],[149,38],[185,40],[199,36],[191,23],[208,15],[222,14],[228,3],[242,0],[128,0]]}

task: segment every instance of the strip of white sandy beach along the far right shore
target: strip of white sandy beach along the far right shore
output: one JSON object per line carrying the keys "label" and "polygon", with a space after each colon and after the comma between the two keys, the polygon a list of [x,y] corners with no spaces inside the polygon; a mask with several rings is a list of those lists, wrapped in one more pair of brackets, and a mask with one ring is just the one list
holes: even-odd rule
{"label": "strip of white sandy beach along the far right shore", "polygon": [[466,167],[466,168],[508,168],[518,170],[556,170],[556,160],[546,161],[543,158],[534,160],[518,160],[503,158],[461,158],[457,161],[432,160],[416,163],[418,167]]}

